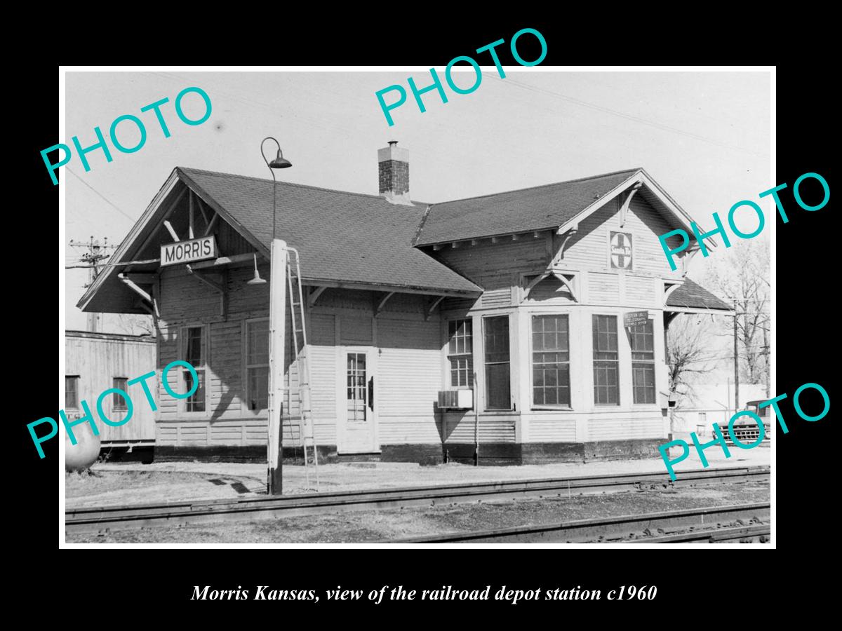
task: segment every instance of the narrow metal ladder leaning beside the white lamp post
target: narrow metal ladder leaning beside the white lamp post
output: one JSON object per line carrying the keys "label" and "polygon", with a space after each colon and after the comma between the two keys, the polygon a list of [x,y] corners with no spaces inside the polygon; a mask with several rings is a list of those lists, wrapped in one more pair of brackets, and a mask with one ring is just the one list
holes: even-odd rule
{"label": "narrow metal ladder leaning beside the white lamp post", "polygon": [[[310,468],[312,466],[316,473],[316,491],[319,491],[318,448],[316,446],[315,432],[313,431],[310,396],[310,358],[308,356],[309,347],[307,346],[307,331],[304,321],[304,292],[301,289],[301,262],[296,248],[289,247],[288,250],[290,252],[290,260],[286,266],[286,278],[290,286],[292,344],[295,349],[296,361],[298,362],[299,436],[301,437],[301,447],[304,448],[304,474],[306,476],[307,490],[312,490],[310,486]],[[295,262],[293,262],[293,256],[295,257]],[[301,342],[300,346],[299,341]],[[289,375],[291,379],[291,371]],[[309,448],[312,448],[312,462],[308,453]]]}

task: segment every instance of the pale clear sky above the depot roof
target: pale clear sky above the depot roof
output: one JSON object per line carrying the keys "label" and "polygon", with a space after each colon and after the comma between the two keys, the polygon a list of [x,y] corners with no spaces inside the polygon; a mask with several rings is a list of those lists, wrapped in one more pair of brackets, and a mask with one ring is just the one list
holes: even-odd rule
{"label": "pale clear sky above the depot roof", "polygon": [[[440,77],[443,68],[437,68]],[[74,154],[61,167],[66,194],[66,241],[117,245],[147,208],[174,167],[193,167],[269,179],[260,141],[280,141],[293,167],[280,178],[322,188],[377,194],[377,149],[399,141],[408,149],[413,200],[435,203],[514,188],[585,178],[644,167],[702,226],[712,227],[715,211],[741,199],[759,202],[770,180],[770,76],[768,72],[564,72],[541,66],[483,67],[482,82],[470,94],[447,87],[447,103],[436,91],[423,95],[421,113],[408,88],[432,81],[429,69],[397,72],[67,72],[65,113],[72,146],[93,145],[93,128],[109,139],[109,127],[123,114],[140,118],[147,141],[134,153],[88,154],[85,172]],[[467,87],[472,70],[454,73]],[[391,114],[389,126],[375,96],[402,85],[408,100]],[[210,118],[185,125],[174,111],[184,87],[200,87],[210,97]],[[154,114],[141,108],[161,98],[171,136],[163,137]],[[391,103],[396,93],[385,96]],[[197,119],[204,106],[196,94],[184,98],[184,112]],[[131,123],[121,123],[124,146],[139,139]],[[267,143],[267,151],[271,151]],[[274,147],[274,145],[273,145]],[[274,154],[269,155],[269,159]],[[45,177],[49,174],[45,170]],[[768,238],[767,228],[758,238]],[[756,218],[738,217],[745,231]],[[738,243],[733,244],[738,245]],[[65,262],[82,249],[67,246]],[[690,276],[717,264],[696,256]],[[724,260],[724,259],[721,259]],[[84,329],[86,314],[76,308],[88,270],[66,272],[67,329]],[[104,331],[119,331],[107,317]]]}

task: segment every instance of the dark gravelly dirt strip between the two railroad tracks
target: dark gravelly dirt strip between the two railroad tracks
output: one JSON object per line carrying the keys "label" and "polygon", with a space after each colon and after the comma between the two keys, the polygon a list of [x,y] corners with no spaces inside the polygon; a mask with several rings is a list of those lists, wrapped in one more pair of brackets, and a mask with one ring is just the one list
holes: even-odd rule
{"label": "dark gravelly dirt strip between the two railroad tracks", "polygon": [[556,523],[589,517],[675,511],[699,506],[769,501],[768,484],[610,493],[541,500],[219,522],[180,528],[72,535],[67,543],[117,544],[317,544],[365,543],[434,533]]}

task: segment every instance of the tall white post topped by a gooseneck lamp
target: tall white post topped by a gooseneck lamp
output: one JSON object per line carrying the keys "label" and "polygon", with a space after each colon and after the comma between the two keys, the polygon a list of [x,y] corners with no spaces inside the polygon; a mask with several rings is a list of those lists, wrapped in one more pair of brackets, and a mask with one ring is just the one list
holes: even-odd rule
{"label": "tall white post topped by a gooseneck lamp", "polygon": [[[274,141],[278,146],[278,155],[272,162],[266,159],[264,153],[264,143],[266,141]],[[260,143],[260,155],[263,156],[266,166],[269,167],[269,172],[272,174],[272,252],[271,265],[269,277],[271,285],[269,287],[269,446],[267,453],[267,460],[269,462],[269,470],[266,474],[266,492],[269,495],[281,494],[281,464],[283,462],[283,454],[281,452],[281,435],[282,428],[280,423],[281,411],[283,408],[283,397],[281,395],[284,383],[284,337],[285,337],[285,321],[284,314],[286,310],[286,242],[275,237],[275,215],[277,213],[277,191],[274,178],[275,169],[283,169],[291,167],[292,163],[286,160],[284,154],[280,151],[280,143],[272,136],[264,138]],[[249,281],[254,283],[258,280],[255,274],[255,279]],[[265,281],[264,281],[265,282]]]}

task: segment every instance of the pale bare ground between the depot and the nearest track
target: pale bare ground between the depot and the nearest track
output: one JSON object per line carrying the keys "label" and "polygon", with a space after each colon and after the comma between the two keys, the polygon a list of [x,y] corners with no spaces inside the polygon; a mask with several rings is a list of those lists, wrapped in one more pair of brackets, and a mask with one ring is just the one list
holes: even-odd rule
{"label": "pale bare ground between the depot and the nearest track", "polygon": [[[729,459],[717,449],[708,449],[711,468],[770,464],[770,449],[734,450]],[[701,469],[695,453],[676,466],[680,471]],[[588,464],[557,463],[492,467],[467,464],[420,466],[411,463],[344,463],[319,466],[322,492],[365,490],[402,486],[458,484],[493,480],[577,477],[622,473],[666,474],[660,459],[606,460]],[[315,480],[306,483],[301,465],[284,465],[284,494],[315,490]],[[266,464],[242,463],[98,463],[88,474],[65,476],[67,509],[92,506],[166,503],[253,497],[266,490]]]}

